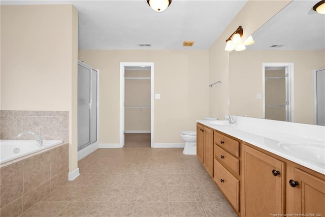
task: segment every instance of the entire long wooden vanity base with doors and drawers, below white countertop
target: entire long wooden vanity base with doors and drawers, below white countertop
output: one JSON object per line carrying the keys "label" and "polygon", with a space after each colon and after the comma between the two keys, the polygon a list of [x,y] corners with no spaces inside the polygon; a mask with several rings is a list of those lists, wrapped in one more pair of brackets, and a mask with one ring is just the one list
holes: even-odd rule
{"label": "entire long wooden vanity base with doors and drawers, below white countertop", "polygon": [[200,123],[197,156],[240,217],[325,216],[324,174]]}

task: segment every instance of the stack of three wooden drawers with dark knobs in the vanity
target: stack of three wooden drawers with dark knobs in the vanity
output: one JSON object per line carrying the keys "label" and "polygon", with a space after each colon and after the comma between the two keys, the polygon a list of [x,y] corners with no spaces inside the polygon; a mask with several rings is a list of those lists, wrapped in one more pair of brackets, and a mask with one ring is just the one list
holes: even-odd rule
{"label": "stack of three wooden drawers with dark knobs in the vanity", "polygon": [[214,175],[225,198],[240,212],[240,142],[214,131]]}

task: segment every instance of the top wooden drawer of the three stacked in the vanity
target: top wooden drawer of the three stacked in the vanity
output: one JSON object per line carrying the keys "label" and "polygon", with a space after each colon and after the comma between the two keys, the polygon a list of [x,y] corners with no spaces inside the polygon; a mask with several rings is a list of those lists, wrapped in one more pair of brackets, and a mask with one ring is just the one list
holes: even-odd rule
{"label": "top wooden drawer of the three stacked in the vanity", "polygon": [[239,142],[224,136],[220,133],[214,132],[214,143],[222,147],[224,150],[239,157]]}

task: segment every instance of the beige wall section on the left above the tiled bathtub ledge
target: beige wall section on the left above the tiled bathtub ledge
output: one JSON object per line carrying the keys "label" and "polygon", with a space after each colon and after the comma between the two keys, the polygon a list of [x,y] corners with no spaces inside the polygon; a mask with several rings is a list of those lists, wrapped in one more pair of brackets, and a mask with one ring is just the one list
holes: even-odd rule
{"label": "beige wall section on the left above the tiled bathtub ledge", "polygon": [[72,5],[1,6],[1,110],[69,111],[77,168],[78,12]]}

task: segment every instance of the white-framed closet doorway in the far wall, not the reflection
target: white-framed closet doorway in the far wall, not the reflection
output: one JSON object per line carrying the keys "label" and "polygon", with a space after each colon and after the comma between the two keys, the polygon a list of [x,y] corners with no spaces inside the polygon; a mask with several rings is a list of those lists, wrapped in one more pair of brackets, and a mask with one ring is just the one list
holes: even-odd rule
{"label": "white-framed closet doorway in the far wall, not the reflection", "polygon": [[120,63],[120,147],[153,147],[153,63]]}

